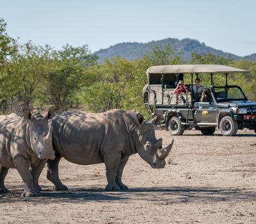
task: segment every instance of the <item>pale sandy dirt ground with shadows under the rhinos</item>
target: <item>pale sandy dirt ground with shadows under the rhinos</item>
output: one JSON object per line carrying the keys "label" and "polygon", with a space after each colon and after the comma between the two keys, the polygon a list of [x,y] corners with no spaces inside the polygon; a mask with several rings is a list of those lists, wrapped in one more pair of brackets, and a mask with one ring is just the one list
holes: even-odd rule
{"label": "pale sandy dirt ground with shadows under the rhinos", "polygon": [[156,132],[175,142],[164,169],[154,170],[138,154],[125,166],[127,191],[106,192],[104,164],[60,163],[69,191],[54,191],[40,177],[42,197],[21,198],[22,181],[12,169],[11,193],[0,195],[0,223],[256,223],[256,135],[183,136]]}

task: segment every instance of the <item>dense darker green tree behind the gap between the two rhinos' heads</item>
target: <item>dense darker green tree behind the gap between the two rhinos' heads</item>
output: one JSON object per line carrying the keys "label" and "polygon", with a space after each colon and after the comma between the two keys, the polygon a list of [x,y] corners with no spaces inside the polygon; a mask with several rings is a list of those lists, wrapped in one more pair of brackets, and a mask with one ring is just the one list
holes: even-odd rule
{"label": "dense darker green tree behind the gap between the two rhinos' heads", "polygon": [[[65,45],[52,54],[51,68],[44,76],[44,88],[41,93],[45,100],[57,110],[77,107],[81,83],[86,79],[86,68],[96,65],[97,56],[90,54],[87,45],[72,47]],[[46,102],[45,102],[46,103]]]}

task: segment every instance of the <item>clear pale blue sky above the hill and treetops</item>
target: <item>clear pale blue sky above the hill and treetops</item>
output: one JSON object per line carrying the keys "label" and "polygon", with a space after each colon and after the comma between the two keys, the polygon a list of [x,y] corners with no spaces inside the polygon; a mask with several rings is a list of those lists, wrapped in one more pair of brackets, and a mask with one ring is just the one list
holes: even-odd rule
{"label": "clear pale blue sky above the hill and treetops", "polygon": [[122,42],[192,38],[245,56],[256,52],[255,0],[0,0],[8,35],[92,52]]}

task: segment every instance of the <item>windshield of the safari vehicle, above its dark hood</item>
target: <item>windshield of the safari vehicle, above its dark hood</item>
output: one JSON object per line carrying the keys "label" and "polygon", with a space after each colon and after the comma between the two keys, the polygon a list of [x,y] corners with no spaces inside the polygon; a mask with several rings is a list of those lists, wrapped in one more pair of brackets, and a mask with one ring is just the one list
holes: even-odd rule
{"label": "windshield of the safari vehicle, above its dark hood", "polygon": [[218,102],[246,100],[243,91],[238,86],[214,87],[214,94]]}

